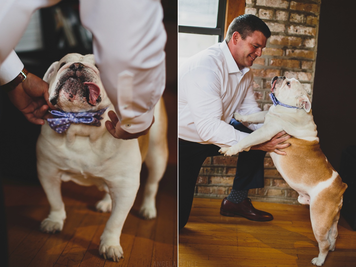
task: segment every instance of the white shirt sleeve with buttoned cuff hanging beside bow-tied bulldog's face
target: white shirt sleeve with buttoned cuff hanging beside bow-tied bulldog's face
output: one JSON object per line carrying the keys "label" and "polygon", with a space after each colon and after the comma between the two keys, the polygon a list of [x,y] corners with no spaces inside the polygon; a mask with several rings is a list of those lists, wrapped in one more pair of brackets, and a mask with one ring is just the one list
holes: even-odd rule
{"label": "white shirt sleeve with buttoned cuff hanging beside bow-tied bulldog's face", "polygon": [[93,34],[96,65],[121,128],[147,129],[166,83],[161,1],[86,0],[80,18]]}

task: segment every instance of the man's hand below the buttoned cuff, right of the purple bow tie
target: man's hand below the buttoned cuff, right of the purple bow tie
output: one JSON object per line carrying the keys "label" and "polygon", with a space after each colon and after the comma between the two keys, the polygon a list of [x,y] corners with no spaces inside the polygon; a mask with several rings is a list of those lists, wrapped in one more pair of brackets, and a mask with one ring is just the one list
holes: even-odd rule
{"label": "man's hand below the buttoned cuff, right of the purple bow tie", "polygon": [[153,117],[152,123],[150,127],[148,127],[146,130],[139,132],[139,133],[128,133],[124,129],[121,128],[121,124],[119,122],[119,119],[117,118],[117,115],[114,111],[109,111],[108,113],[110,120],[107,120],[105,122],[106,129],[108,129],[109,133],[118,139],[135,139],[140,137],[141,135],[145,135],[148,133],[148,130],[150,130],[152,124],[155,122],[155,117]]}

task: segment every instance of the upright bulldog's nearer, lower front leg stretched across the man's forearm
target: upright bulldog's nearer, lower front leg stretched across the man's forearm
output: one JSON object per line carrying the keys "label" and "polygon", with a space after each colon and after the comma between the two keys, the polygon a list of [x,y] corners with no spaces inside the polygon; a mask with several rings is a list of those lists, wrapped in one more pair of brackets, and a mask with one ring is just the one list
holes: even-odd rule
{"label": "upright bulldog's nearer, lower front leg stretched across the man's forearm", "polygon": [[232,147],[223,147],[219,150],[224,156],[232,156],[244,150],[250,149],[254,145],[264,143],[271,140],[274,135],[281,132],[283,129],[278,125],[263,124],[260,129],[255,130],[250,133],[247,137],[239,141],[236,145]]}

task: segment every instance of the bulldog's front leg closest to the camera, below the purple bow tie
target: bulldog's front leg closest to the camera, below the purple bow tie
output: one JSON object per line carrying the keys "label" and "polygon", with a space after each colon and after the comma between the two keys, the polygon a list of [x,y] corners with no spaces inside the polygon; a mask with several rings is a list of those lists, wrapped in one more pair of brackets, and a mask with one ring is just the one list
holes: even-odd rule
{"label": "bulldog's front leg closest to the camera, below the purple bow tie", "polygon": [[120,245],[121,231],[135,201],[140,186],[140,174],[106,180],[106,183],[112,199],[112,211],[100,237],[99,254],[103,255],[105,259],[119,261],[121,257],[124,257]]}

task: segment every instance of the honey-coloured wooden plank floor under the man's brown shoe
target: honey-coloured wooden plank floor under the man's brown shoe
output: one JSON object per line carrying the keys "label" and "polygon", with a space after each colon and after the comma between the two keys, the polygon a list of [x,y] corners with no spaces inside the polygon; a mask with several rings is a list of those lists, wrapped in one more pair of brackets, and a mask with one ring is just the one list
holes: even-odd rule
{"label": "honey-coloured wooden plank floor under the man's brown shoe", "polygon": [[[180,267],[304,267],[318,255],[309,206],[253,201],[274,220],[255,222],[219,214],[220,199],[194,198],[187,225],[178,233]],[[356,266],[356,232],[341,217],[335,251],[325,267]]]}

